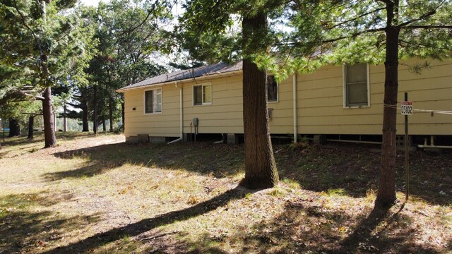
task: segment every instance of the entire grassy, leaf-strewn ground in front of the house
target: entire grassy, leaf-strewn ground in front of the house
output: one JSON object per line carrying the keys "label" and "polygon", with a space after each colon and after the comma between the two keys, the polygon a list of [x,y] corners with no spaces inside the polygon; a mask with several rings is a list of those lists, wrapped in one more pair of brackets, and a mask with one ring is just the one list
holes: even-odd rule
{"label": "entire grassy, leaf-strewn ground in front of the house", "polygon": [[244,146],[58,133],[0,148],[0,253],[451,253],[452,151],[411,153],[405,202],[373,210],[379,146],[273,145],[280,183],[250,191]]}

